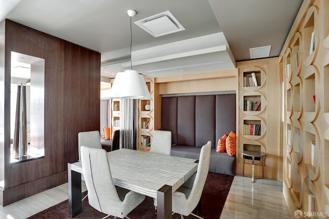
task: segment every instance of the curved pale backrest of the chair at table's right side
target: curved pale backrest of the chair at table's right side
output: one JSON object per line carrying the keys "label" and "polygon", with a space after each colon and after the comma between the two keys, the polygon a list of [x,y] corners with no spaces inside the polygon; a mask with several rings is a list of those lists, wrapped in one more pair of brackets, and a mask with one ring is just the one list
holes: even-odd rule
{"label": "curved pale backrest of the chair at table's right side", "polygon": [[208,141],[207,144],[203,145],[201,149],[196,176],[194,179],[191,193],[188,197],[188,202],[189,202],[188,206],[191,207],[191,212],[197,206],[205,186],[205,182],[209,171],[210,152],[211,152],[211,141]]}

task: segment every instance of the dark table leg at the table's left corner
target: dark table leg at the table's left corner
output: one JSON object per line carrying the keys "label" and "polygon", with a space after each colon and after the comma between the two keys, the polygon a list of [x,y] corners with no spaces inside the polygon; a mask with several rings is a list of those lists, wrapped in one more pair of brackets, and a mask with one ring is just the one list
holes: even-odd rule
{"label": "dark table leg at the table's left corner", "polygon": [[82,212],[81,173],[71,170],[71,164],[67,164],[68,180],[68,213],[74,217]]}

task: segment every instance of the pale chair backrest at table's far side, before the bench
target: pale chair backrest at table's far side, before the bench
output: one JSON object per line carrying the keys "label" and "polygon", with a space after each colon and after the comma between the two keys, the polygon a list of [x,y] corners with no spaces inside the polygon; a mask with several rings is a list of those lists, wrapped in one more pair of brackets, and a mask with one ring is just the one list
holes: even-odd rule
{"label": "pale chair backrest at table's far side, before the bench", "polygon": [[170,155],[171,152],[171,132],[155,130],[151,142],[150,153]]}

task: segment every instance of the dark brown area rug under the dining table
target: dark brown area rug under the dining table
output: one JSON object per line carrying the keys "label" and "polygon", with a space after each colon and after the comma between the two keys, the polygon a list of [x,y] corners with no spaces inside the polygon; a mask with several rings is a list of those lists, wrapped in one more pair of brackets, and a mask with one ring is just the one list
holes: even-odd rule
{"label": "dark brown area rug under the dining table", "polygon": [[[208,173],[205,188],[201,196],[201,212],[199,216],[205,219],[218,219],[222,213],[225,200],[227,198],[228,192],[231,188],[233,181],[233,176],[218,174],[218,173]],[[86,193],[86,192],[84,192]],[[82,195],[84,197],[85,194]],[[88,197],[82,202],[82,213],[74,218],[102,218],[106,216],[88,204]],[[196,211],[194,211],[195,213]],[[127,215],[130,219],[151,219],[156,218],[155,209],[153,206],[153,198],[146,197],[145,200],[137,206],[130,214]],[[34,214],[29,217],[33,218],[44,218],[44,219],[59,219],[59,218],[70,218],[68,216],[68,200],[61,202],[51,208],[48,208],[38,214]],[[113,216],[107,217],[113,219]],[[184,216],[185,219],[195,219],[196,217],[189,215]],[[180,219],[179,214],[174,214],[173,219]]]}

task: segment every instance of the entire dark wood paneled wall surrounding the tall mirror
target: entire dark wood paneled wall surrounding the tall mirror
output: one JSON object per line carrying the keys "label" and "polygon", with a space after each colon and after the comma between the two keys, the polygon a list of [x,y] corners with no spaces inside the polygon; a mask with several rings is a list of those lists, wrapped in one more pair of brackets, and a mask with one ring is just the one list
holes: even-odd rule
{"label": "entire dark wood paneled wall surrounding the tall mirror", "polygon": [[[6,72],[11,51],[45,59],[45,157],[10,165],[10,145],[5,145],[3,198],[10,204],[67,181],[62,175],[67,162],[78,160],[78,132],[99,130],[100,53],[9,20],[5,31]],[[5,136],[8,132],[5,127]],[[31,183],[38,180],[42,184]]]}

